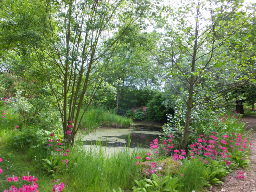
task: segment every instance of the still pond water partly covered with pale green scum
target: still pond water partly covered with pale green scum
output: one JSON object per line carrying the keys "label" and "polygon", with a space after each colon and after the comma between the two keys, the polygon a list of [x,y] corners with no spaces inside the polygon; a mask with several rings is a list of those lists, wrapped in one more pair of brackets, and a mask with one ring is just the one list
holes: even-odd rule
{"label": "still pond water partly covered with pale green scum", "polygon": [[159,136],[164,136],[162,126],[150,124],[134,124],[132,128],[127,129],[102,129],[96,130],[95,134],[86,135],[82,141],[84,145],[99,145],[106,147],[128,147],[130,140],[130,148],[143,147],[149,148],[150,142]]}

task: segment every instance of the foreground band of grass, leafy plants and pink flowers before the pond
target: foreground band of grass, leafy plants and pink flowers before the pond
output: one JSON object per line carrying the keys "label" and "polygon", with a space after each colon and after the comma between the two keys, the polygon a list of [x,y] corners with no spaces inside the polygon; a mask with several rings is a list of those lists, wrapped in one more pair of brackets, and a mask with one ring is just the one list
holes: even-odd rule
{"label": "foreground band of grass, leafy plants and pink flowers before the pond", "polygon": [[[200,135],[191,139],[186,151],[177,148],[180,145],[170,134],[166,140],[154,140],[152,150],[147,153],[131,153],[126,148],[111,156],[104,154],[100,143],[91,150],[80,145],[68,148],[58,129],[53,130],[54,133],[40,133],[36,138],[45,139],[45,142],[32,145],[24,141],[33,140],[33,134],[39,134],[36,131],[30,135],[35,127],[24,128],[29,137],[21,137],[17,125],[10,128],[2,126],[0,155],[3,161],[0,165],[3,172],[0,174],[0,189],[3,191],[12,185],[19,188],[28,184],[21,177],[27,176],[30,171],[30,175],[38,178],[38,191],[53,190],[57,179],[65,184],[63,191],[203,191],[207,186],[223,183],[224,176],[236,172],[237,167],[248,165],[251,144],[242,120],[236,115],[222,115],[215,124],[218,131],[205,131],[204,135],[198,133]],[[167,157],[179,163],[178,169],[173,172],[167,167],[159,173],[160,166],[156,166],[156,162]],[[144,161],[150,162],[149,168],[141,167]],[[244,173],[241,175],[246,177]],[[9,177],[16,176],[19,176],[18,182],[7,181]]]}

